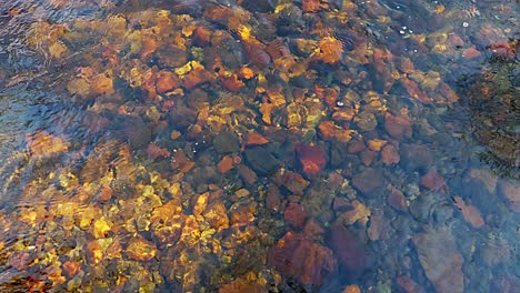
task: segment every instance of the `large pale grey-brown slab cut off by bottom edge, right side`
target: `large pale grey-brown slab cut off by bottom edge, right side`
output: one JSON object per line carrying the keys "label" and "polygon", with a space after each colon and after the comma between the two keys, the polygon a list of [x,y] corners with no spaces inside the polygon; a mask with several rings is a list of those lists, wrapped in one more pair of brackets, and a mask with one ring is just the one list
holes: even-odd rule
{"label": "large pale grey-brown slab cut off by bottom edge, right side", "polygon": [[453,236],[444,230],[431,230],[413,236],[419,261],[428,280],[439,293],[462,293],[462,255]]}

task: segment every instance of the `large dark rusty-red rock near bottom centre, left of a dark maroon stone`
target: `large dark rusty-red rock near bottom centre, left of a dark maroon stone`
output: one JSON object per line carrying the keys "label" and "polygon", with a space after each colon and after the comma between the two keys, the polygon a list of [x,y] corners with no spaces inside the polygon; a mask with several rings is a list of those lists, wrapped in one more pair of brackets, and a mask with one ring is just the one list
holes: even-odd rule
{"label": "large dark rusty-red rock near bottom centre, left of a dark maroon stone", "polygon": [[296,277],[303,284],[312,285],[323,283],[338,266],[332,251],[294,232],[287,232],[269,250],[268,264],[287,277]]}

